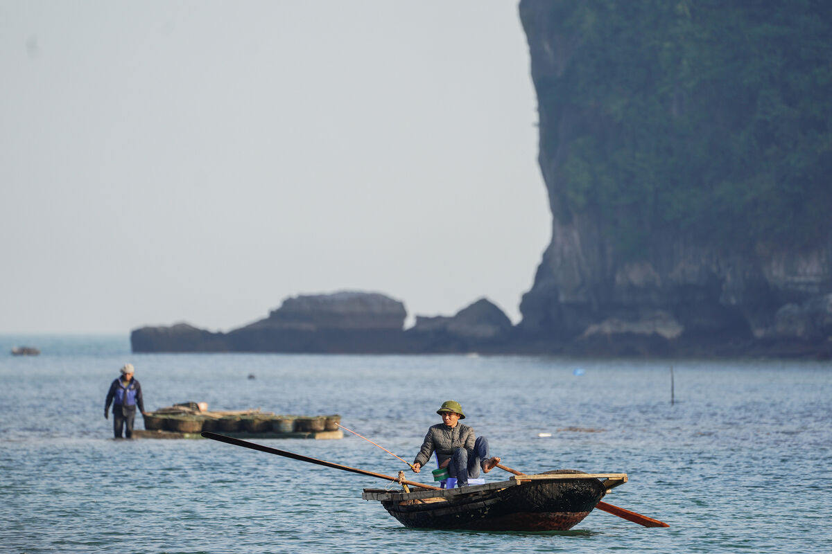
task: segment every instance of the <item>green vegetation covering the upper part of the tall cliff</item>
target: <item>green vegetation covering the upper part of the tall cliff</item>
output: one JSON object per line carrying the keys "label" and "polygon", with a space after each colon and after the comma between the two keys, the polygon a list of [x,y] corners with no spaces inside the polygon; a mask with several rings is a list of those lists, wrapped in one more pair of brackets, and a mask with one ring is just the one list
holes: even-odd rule
{"label": "green vegetation covering the upper part of the tall cliff", "polygon": [[726,248],[829,236],[832,2],[534,9],[565,60],[534,75],[542,154],[565,152],[559,217],[597,214],[630,254],[656,233]]}

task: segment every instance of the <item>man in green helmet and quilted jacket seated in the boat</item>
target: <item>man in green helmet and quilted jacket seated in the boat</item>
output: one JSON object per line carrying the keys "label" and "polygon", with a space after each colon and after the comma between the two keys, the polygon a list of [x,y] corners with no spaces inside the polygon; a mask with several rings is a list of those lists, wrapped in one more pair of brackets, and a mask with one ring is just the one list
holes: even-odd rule
{"label": "man in green helmet and quilted jacket seated in the boat", "polygon": [[450,476],[457,479],[457,487],[466,487],[468,477],[477,478],[480,468],[483,473],[488,473],[500,463],[500,458],[492,458],[488,452],[488,439],[474,439],[473,429],[459,423],[460,419],[465,419],[465,414],[458,402],[443,402],[436,413],[442,416],[442,423],[431,425],[428,434],[424,435],[422,448],[411,466],[415,473],[419,473],[436,452],[439,467],[448,468]]}

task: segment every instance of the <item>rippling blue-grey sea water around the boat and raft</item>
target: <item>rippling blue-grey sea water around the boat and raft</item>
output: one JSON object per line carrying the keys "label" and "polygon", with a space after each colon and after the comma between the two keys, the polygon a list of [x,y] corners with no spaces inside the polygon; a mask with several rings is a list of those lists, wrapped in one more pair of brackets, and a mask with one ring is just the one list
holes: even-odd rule
{"label": "rippling blue-grey sea water around the boat and raft", "polygon": [[[42,355],[7,355],[27,343]],[[0,552],[832,552],[829,362],[132,355],[123,337],[0,349]],[[570,532],[411,530],[361,499],[384,481],[209,440],[116,441],[102,408],[126,361],[147,409],[337,413],[406,459],[458,400],[509,467],[628,473],[605,500],[671,527],[596,511]],[[355,437],[260,442],[406,469]]]}

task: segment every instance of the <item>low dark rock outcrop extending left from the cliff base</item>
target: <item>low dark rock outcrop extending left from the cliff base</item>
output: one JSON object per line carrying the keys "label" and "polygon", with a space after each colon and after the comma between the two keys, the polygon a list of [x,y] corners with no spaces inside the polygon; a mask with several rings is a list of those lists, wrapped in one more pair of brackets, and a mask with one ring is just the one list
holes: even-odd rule
{"label": "low dark rock outcrop extending left from the cliff base", "polygon": [[375,292],[336,292],[285,299],[250,325],[212,333],[184,323],[131,333],[135,352],[296,352],[415,354],[503,348],[513,326],[485,298],[453,317],[417,316],[404,331],[404,304]]}

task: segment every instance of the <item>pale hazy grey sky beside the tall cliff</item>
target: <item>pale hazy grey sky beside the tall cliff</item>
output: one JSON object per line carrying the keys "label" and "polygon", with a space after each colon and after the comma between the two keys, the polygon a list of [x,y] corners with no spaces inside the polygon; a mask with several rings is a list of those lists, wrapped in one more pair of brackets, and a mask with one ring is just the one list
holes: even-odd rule
{"label": "pale hazy grey sky beside the tall cliff", "polygon": [[363,290],[513,321],[549,238],[513,0],[0,0],[0,333]]}

